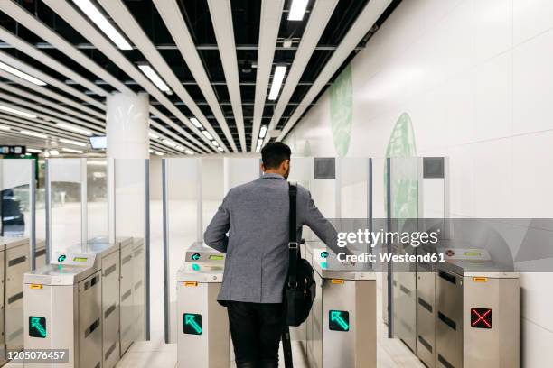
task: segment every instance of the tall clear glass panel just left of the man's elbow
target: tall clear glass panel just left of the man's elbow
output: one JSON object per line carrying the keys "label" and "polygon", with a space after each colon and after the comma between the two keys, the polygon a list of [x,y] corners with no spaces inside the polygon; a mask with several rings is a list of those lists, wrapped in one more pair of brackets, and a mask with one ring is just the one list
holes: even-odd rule
{"label": "tall clear glass panel just left of the man's elbow", "polygon": [[[202,211],[202,159],[195,158],[175,158],[165,159],[165,176],[164,185],[166,189],[165,203],[165,220],[166,220],[166,241],[168,251],[168,291],[169,291],[169,341],[176,342],[177,334],[177,319],[176,319],[176,275],[177,271],[183,265],[186,250],[195,242],[202,242],[202,223],[199,221],[199,213]],[[208,169],[214,168],[210,164],[215,164],[210,161]],[[210,175],[216,177],[214,172]],[[219,192],[214,193],[218,195]],[[212,199],[210,199],[212,200]],[[158,247],[157,242],[153,242],[152,265],[156,269],[156,265],[162,265],[163,260],[160,259],[162,252],[156,252]],[[161,269],[161,267],[160,267]],[[164,280],[162,274],[152,275],[153,295],[152,299],[162,300]],[[161,299],[155,298],[159,293]],[[161,303],[153,302],[152,326],[164,326],[163,320],[158,318],[163,317],[163,309],[156,313],[156,306],[161,306]],[[157,322],[157,323],[156,323]],[[153,336],[156,333],[152,331]],[[160,331],[163,336],[163,332]]]}

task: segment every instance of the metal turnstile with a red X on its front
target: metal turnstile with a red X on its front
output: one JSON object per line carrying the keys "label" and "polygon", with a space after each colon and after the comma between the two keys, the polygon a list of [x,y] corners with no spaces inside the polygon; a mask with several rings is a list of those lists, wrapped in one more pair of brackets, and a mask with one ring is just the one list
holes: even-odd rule
{"label": "metal turnstile with a red X on its front", "polygon": [[520,281],[484,249],[443,250],[436,275],[436,366],[518,368]]}

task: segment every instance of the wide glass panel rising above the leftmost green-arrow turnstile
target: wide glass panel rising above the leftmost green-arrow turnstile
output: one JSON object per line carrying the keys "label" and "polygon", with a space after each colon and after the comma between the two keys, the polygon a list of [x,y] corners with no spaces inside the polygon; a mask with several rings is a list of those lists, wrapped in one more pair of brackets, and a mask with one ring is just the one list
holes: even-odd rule
{"label": "wide glass panel rising above the leftmost green-arrow turnstile", "polygon": [[47,160],[50,181],[50,253],[81,242],[81,160]]}

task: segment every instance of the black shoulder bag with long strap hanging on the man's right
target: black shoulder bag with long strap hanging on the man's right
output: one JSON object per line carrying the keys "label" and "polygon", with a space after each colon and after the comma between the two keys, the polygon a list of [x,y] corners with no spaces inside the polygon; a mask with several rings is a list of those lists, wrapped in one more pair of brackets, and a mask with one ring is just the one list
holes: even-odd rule
{"label": "black shoulder bag with long strap hanging on the man's right", "polygon": [[313,306],[316,287],[313,278],[313,267],[301,257],[296,233],[295,202],[297,187],[295,183],[288,184],[290,199],[290,223],[288,242],[288,280],[285,286],[286,324],[300,326],[309,316]]}

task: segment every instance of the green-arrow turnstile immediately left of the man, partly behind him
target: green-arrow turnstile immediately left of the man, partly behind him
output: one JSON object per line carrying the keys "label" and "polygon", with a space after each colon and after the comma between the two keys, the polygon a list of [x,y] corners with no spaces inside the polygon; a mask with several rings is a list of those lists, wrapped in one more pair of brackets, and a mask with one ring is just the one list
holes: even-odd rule
{"label": "green-arrow turnstile immediately left of the man, partly behind him", "polygon": [[177,366],[230,367],[227,311],[217,302],[225,254],[202,243],[187,250],[177,273]]}

